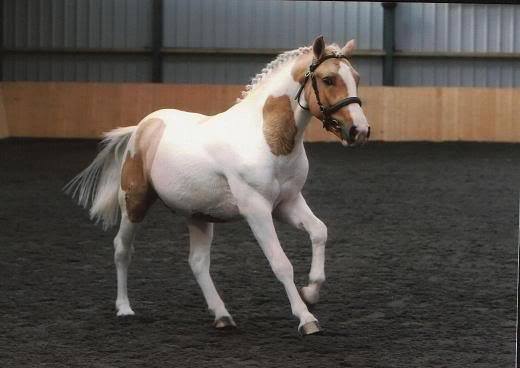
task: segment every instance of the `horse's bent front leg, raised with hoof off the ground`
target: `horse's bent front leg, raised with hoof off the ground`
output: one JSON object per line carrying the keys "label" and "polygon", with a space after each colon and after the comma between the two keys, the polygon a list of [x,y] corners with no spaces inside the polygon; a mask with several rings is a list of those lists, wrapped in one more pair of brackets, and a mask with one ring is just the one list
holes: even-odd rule
{"label": "horse's bent front leg, raised with hoof off the ground", "polygon": [[308,304],[315,304],[320,298],[320,288],[325,281],[327,226],[312,213],[301,193],[292,200],[282,202],[274,215],[280,221],[307,231],[311,238],[312,262],[309,284],[301,289],[301,293]]}

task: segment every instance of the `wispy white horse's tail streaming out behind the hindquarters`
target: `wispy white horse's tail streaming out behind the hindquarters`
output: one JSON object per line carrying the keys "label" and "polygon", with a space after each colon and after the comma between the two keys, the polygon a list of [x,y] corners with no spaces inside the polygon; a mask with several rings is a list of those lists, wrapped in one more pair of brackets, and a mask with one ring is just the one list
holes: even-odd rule
{"label": "wispy white horse's tail streaming out behind the hindquarters", "polygon": [[105,133],[94,161],[64,188],[84,208],[91,204],[90,218],[96,224],[101,222],[104,230],[117,224],[123,155],[136,129],[130,126]]}

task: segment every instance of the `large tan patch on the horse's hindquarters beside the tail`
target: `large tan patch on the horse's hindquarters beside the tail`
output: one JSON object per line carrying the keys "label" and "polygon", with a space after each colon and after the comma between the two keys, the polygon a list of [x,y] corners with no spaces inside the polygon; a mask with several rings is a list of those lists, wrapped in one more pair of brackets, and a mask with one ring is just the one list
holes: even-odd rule
{"label": "large tan patch on the horse's hindquarters beside the tail", "polygon": [[139,124],[133,141],[134,154],[126,154],[121,170],[121,189],[125,192],[126,212],[131,222],[143,221],[148,208],[157,199],[150,181],[150,169],[164,128],[164,122],[157,118]]}

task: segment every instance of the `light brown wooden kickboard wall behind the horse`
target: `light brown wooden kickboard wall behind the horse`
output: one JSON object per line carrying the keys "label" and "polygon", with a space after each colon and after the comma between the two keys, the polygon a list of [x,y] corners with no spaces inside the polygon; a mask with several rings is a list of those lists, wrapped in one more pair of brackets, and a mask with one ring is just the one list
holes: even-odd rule
{"label": "light brown wooden kickboard wall behind the horse", "polygon": [[[0,138],[98,138],[161,108],[216,114],[229,108],[243,88],[75,82],[0,86]],[[374,140],[520,142],[520,89],[361,86],[359,95]],[[336,140],[316,119],[306,139]]]}

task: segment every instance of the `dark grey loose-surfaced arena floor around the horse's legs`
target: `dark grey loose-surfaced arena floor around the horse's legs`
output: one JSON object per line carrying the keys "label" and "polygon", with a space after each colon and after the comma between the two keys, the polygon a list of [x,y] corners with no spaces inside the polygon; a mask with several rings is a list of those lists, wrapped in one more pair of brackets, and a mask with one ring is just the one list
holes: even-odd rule
{"label": "dark grey loose-surfaced arena floor around the horse's legs", "polygon": [[[310,144],[328,225],[325,333],[302,339],[244,222],[216,226],[212,274],[239,329],[211,327],[181,219],[156,205],[114,313],[112,238],[61,187],[92,141],[0,141],[0,366],[512,367],[520,145]],[[280,225],[298,285],[311,248]]]}

